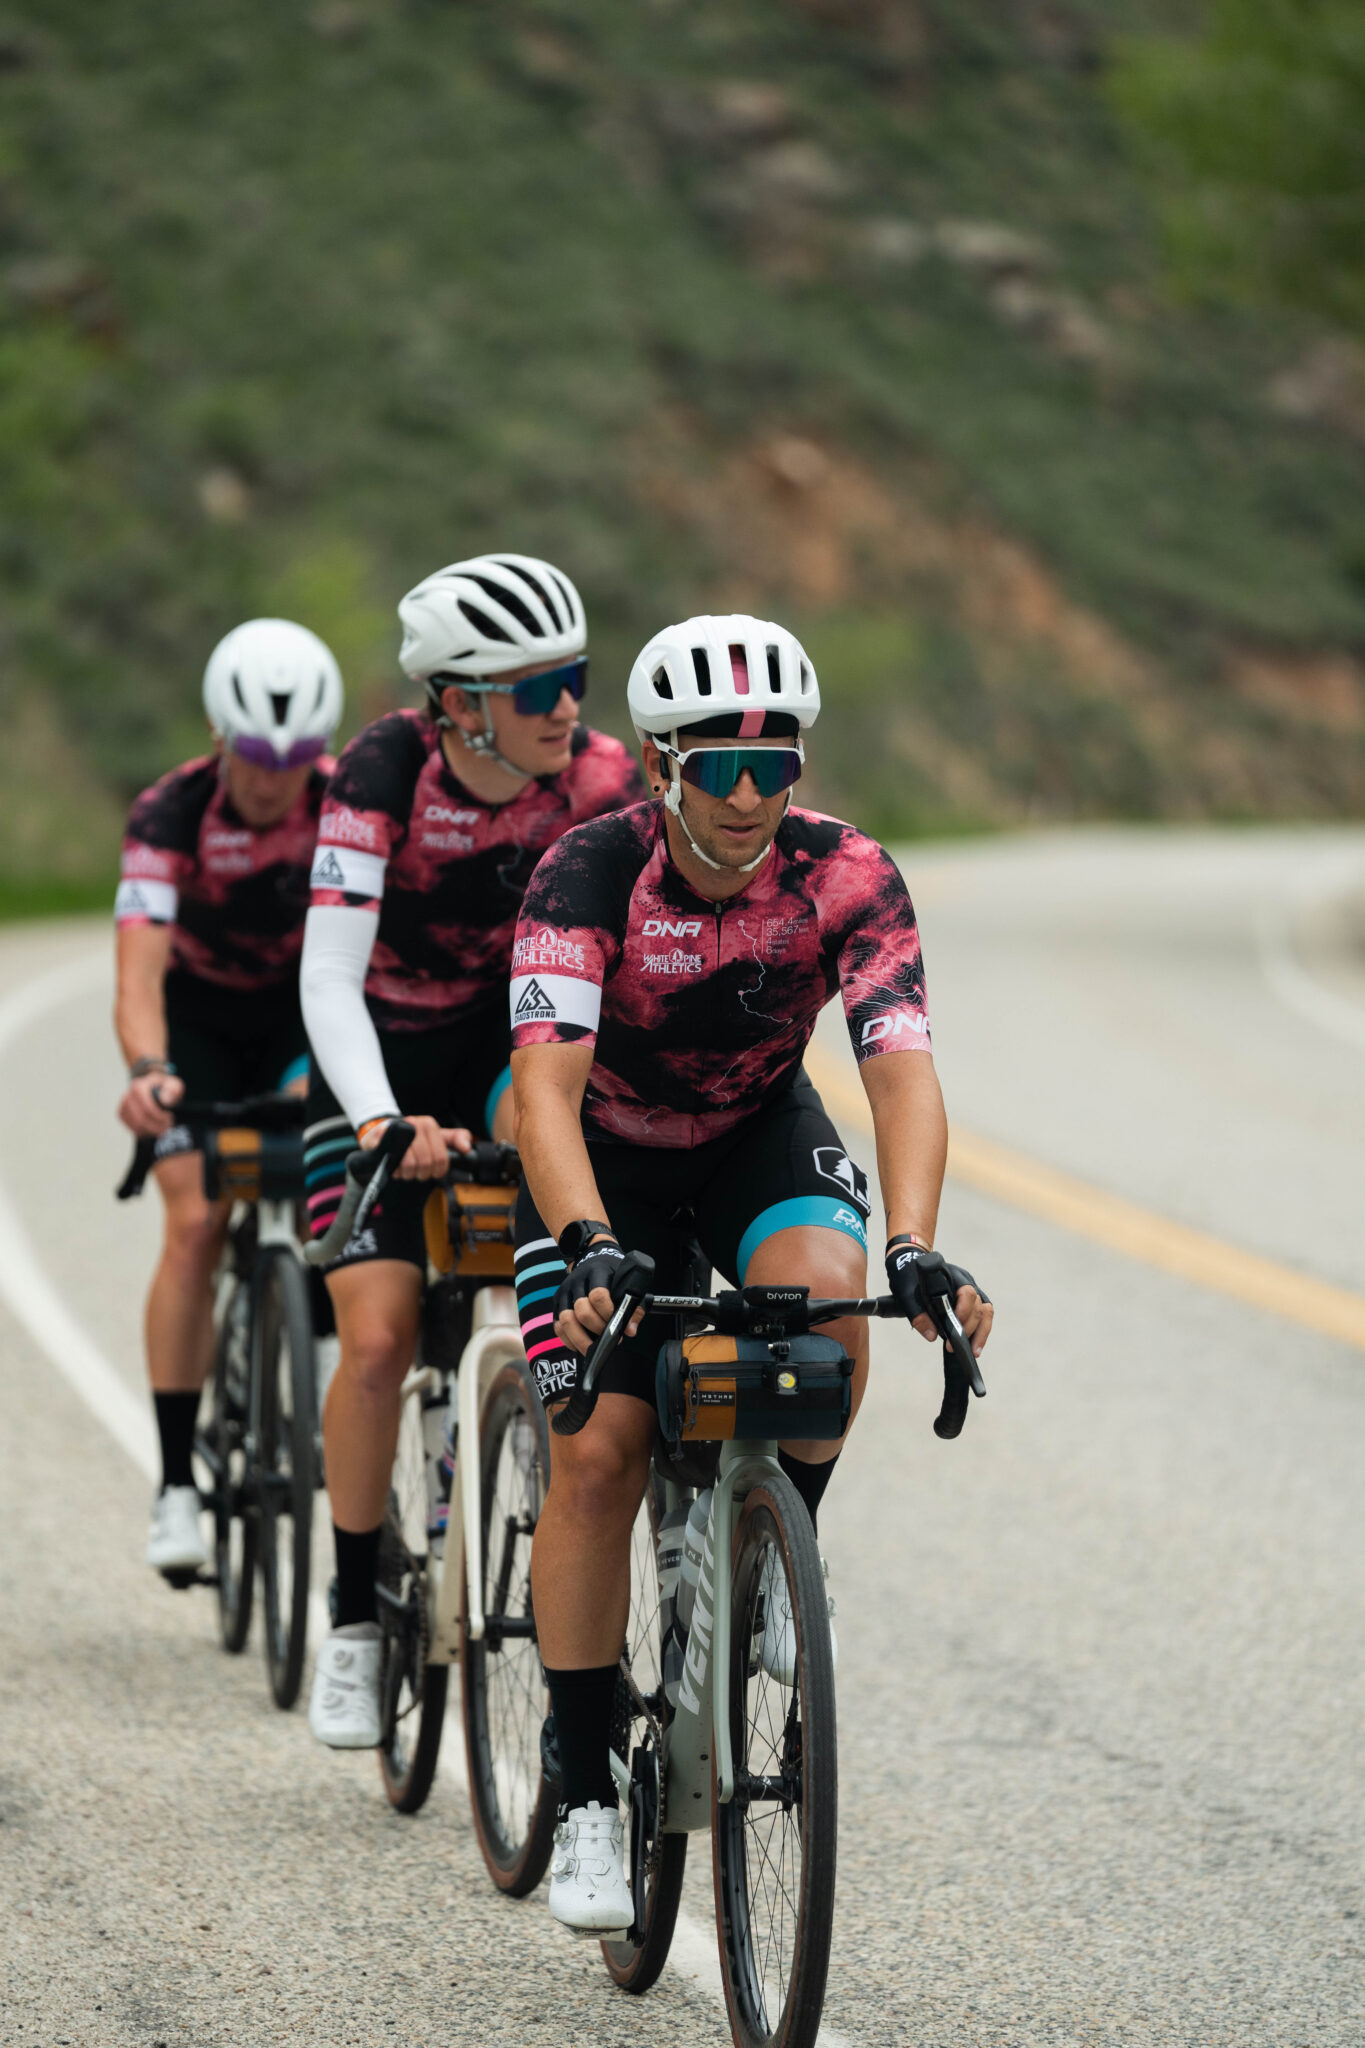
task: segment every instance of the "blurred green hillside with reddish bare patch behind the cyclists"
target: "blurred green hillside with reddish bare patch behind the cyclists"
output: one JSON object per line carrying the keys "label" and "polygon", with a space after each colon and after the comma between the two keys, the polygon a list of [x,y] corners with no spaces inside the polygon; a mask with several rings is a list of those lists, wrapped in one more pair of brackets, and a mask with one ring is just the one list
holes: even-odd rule
{"label": "blurred green hillside with reddish bare patch behind the cyclists", "polygon": [[237,618],[368,717],[397,596],[485,545],[581,582],[618,727],[667,614],[780,612],[882,829],[1359,811],[1365,428],[1320,334],[1162,283],[1107,59],[1173,18],[10,8],[10,897],[104,874]]}

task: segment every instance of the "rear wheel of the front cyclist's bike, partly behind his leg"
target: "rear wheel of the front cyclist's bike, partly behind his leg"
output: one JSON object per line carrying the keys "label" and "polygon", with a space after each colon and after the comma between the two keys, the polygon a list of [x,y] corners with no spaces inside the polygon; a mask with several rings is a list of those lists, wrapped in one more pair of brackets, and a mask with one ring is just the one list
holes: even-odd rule
{"label": "rear wheel of the front cyclist's bike, partly behind his leg", "polygon": [[[639,1942],[604,1942],[602,1960],[622,1991],[645,1993],[659,1980],[677,1925],[688,1837],[663,1835],[657,1729],[667,1720],[663,1698],[663,1616],[659,1610],[659,1516],[663,1485],[655,1473],[630,1532],[630,1622],[626,1655],[630,1679],[616,1696],[612,1745],[630,1761],[630,1874],[634,1882],[634,1933]],[[641,1710],[641,1694],[649,1712]]]}

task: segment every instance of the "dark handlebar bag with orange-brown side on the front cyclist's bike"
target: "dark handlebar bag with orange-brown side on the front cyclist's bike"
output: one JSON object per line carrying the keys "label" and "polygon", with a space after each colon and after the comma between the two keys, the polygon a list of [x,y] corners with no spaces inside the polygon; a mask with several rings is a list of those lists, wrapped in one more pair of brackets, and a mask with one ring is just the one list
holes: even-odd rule
{"label": "dark handlebar bag with orange-brown side on the front cyclist's bike", "polygon": [[833,1442],[849,1425],[853,1360],[833,1337],[675,1337],[659,1352],[655,1401],[669,1444]]}

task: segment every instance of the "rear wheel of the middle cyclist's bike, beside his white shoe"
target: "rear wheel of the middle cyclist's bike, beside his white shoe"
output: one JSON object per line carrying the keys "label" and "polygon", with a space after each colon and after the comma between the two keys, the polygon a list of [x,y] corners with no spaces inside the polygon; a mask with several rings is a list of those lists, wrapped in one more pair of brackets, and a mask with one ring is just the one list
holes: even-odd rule
{"label": "rear wheel of the middle cyclist's bike, beside his white shoe", "polygon": [[426,1661],[430,1556],[426,1534],[426,1448],[422,1395],[409,1393],[399,1417],[389,1509],[379,1538],[379,1769],[399,1812],[426,1806],[446,1724],[450,1665]]}

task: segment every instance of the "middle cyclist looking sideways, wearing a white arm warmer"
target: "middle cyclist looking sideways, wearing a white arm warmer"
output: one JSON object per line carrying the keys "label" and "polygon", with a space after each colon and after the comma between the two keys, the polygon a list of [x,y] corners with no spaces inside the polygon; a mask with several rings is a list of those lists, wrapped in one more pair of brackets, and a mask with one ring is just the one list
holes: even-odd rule
{"label": "middle cyclist looking sideways, wearing a white arm warmer", "polygon": [[536,860],[643,791],[626,748],[579,725],[583,606],[548,561],[456,561],[417,584],[399,618],[399,662],[428,705],[379,719],[342,754],[303,948],[313,1235],[336,1217],[356,1137],[377,1145],[399,1114],[417,1130],[327,1274],[342,1339],[323,1413],[338,1587],[309,1724],[336,1749],[381,1735],[375,1569],[417,1341],[428,1182],[448,1147],[512,1135],[508,973]]}

